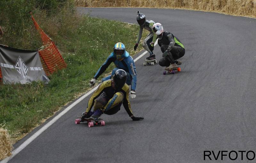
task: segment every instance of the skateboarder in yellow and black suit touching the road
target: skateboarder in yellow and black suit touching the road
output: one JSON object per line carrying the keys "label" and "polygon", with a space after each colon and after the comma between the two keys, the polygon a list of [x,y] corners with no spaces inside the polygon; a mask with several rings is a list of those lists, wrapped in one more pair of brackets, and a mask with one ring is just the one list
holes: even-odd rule
{"label": "skateboarder in yellow and black suit touching the road", "polygon": [[[86,111],[82,113],[81,119],[90,118],[97,120],[103,113],[108,115],[116,114],[122,104],[133,121],[144,119],[143,117],[133,116],[129,101],[129,86],[125,83],[126,80],[126,72],[118,69],[113,79],[103,81],[90,97]],[[91,111],[92,106],[94,106],[93,111]]]}

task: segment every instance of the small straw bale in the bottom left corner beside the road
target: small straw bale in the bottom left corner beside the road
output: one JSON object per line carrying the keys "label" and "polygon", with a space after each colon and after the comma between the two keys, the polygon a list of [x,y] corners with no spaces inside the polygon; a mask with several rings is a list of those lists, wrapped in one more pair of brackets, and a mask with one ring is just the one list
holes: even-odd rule
{"label": "small straw bale in the bottom left corner beside the road", "polygon": [[12,145],[7,130],[0,128],[0,160],[12,155]]}

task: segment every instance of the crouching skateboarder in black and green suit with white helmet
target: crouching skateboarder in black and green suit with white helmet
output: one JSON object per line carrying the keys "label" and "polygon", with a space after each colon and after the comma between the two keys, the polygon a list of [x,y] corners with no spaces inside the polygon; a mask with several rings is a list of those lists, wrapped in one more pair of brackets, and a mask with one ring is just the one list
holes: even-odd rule
{"label": "crouching skateboarder in black and green suit with white helmet", "polygon": [[164,31],[160,23],[155,23],[153,30],[158,35],[158,45],[163,53],[163,58],[160,59],[159,65],[165,66],[165,70],[177,68],[178,65],[181,65],[181,61],[178,59],[185,54],[183,44],[171,32]]}

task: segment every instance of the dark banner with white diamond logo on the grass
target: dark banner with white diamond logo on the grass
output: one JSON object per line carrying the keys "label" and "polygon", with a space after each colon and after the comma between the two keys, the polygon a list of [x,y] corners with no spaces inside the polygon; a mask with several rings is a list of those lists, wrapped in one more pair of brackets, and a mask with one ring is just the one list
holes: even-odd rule
{"label": "dark banner with white diamond logo on the grass", "polygon": [[49,80],[38,51],[20,50],[0,45],[0,67],[4,84]]}

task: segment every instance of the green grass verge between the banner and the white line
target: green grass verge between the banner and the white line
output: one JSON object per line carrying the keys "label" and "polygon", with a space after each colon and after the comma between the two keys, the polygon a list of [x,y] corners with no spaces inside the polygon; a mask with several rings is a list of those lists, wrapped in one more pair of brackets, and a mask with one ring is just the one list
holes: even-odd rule
{"label": "green grass verge between the banner and the white line", "polygon": [[[0,86],[0,124],[9,130],[14,141],[22,138],[77,95],[86,92],[90,79],[113,51],[115,43],[122,42],[131,55],[135,53],[133,46],[139,30],[137,25],[88,16],[73,15],[68,18],[67,14],[59,13],[48,18],[44,12],[38,11],[34,16],[56,43],[68,67],[49,76],[51,81],[47,85],[33,82]],[[143,38],[147,34],[143,33]],[[8,38],[4,41],[6,44],[11,42]],[[23,45],[20,41],[12,45],[26,49],[38,46],[33,43]],[[112,63],[106,72],[110,72],[113,67]],[[81,108],[81,112],[84,109]]]}

